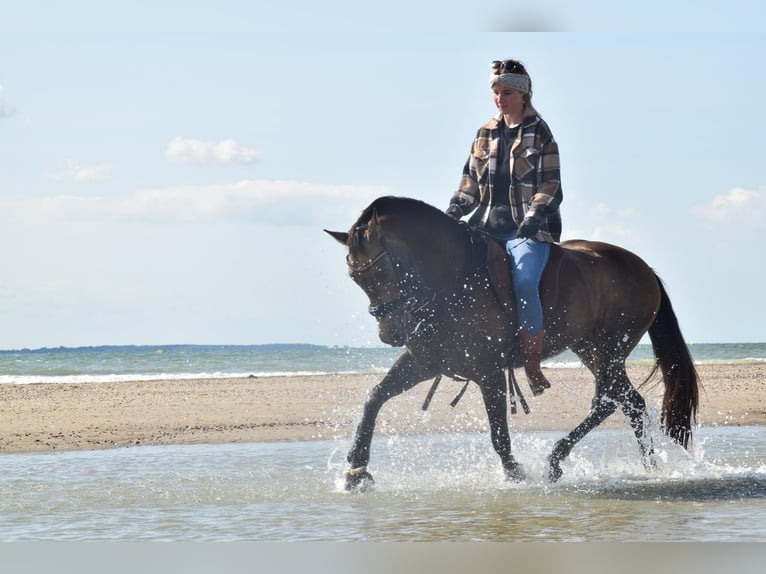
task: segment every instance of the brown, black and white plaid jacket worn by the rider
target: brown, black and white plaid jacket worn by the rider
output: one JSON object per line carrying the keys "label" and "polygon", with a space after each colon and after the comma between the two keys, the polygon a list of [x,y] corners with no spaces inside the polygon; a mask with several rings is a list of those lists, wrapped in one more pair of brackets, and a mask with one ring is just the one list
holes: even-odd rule
{"label": "brown, black and white plaid jacket worn by the rider", "polygon": [[[460,186],[450,200],[450,204],[460,206],[463,214],[476,210],[470,223],[478,227],[487,224],[493,193],[503,192],[493,189],[500,121],[501,116],[498,115],[479,128],[463,168]],[[514,222],[520,225],[524,216],[532,211],[543,220],[535,238],[547,242],[559,241],[559,205],[563,200],[559,149],[548,124],[532,106],[528,106],[519,135],[511,146],[510,162],[511,188],[507,193]]]}

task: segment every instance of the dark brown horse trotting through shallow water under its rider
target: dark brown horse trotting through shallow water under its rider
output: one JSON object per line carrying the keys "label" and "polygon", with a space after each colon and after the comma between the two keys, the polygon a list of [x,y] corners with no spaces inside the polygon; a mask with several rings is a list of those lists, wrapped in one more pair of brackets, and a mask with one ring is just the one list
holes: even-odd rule
{"label": "dark brown horse trotting through shallow water under its rider", "polygon": [[[405,346],[367,397],[347,457],[346,488],[372,483],[367,464],[384,403],[442,374],[479,386],[506,477],[523,480],[511,454],[504,373],[521,367],[522,358],[514,352],[515,320],[489,279],[487,240],[435,207],[402,197],[378,198],[350,231],[327,233],[348,248],[349,275],[370,299],[381,341]],[[687,447],[697,410],[697,373],[654,271],[614,245],[565,241],[552,246],[540,290],[544,356],[571,349],[596,378],[588,415],[553,447],[549,479],[561,477],[561,461],[618,406],[649,463],[646,403],[625,372],[625,359],[647,331],[656,358],[652,374],[659,369],[665,384],[663,428]]]}

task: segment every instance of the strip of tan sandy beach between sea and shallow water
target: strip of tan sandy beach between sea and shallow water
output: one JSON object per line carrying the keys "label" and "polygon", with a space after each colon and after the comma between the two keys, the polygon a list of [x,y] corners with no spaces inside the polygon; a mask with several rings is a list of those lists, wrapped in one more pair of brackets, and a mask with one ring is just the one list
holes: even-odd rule
{"label": "strip of tan sandy beach between sea and shallow water", "polygon": [[[766,424],[766,364],[702,365],[698,423]],[[587,413],[593,380],[585,369],[546,369],[552,388],[532,412],[511,417],[511,430],[570,430]],[[634,384],[649,368],[629,371]],[[349,437],[379,375],[323,375],[86,384],[0,385],[0,452],[101,449],[135,445],[317,440]],[[485,431],[478,388],[450,401],[461,384],[443,379],[430,409],[422,383],[384,407],[380,434]],[[641,389],[659,410],[662,384]],[[627,426],[615,414],[603,428]]]}

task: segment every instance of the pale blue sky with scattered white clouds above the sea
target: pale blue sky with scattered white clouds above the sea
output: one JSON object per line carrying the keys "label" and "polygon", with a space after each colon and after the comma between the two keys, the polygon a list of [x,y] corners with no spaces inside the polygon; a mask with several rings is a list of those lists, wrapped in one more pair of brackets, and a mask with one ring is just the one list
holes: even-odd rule
{"label": "pale blue sky with scattered white clouds above the sea", "polygon": [[643,257],[689,343],[766,341],[759,3],[269,4],[3,7],[0,349],[380,345],[322,230],[446,208],[502,58],[559,144],[563,239]]}

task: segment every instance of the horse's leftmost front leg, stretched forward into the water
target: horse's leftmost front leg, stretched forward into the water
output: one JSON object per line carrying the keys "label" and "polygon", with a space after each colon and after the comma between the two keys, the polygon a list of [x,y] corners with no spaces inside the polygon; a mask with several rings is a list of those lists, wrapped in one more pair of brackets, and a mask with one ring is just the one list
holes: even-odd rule
{"label": "horse's leftmost front leg, stretched forward into the water", "polygon": [[367,464],[370,461],[375,422],[386,401],[437,374],[434,369],[418,364],[412,354],[405,351],[399,355],[383,380],[373,387],[365,400],[362,419],[356,427],[351,450],[346,457],[349,463],[346,490],[364,490],[374,483],[372,475],[367,471]]}

